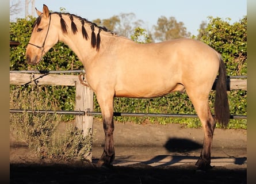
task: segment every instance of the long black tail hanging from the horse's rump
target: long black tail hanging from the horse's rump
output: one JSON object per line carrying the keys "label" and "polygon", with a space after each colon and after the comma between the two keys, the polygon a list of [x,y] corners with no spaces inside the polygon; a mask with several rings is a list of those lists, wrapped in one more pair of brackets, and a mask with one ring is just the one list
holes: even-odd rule
{"label": "long black tail hanging from the horse's rump", "polygon": [[221,124],[223,128],[227,127],[230,121],[230,107],[228,105],[227,96],[227,74],[226,67],[221,56],[219,56],[220,67],[219,67],[219,78],[216,83],[215,93],[215,119]]}

